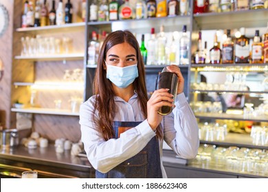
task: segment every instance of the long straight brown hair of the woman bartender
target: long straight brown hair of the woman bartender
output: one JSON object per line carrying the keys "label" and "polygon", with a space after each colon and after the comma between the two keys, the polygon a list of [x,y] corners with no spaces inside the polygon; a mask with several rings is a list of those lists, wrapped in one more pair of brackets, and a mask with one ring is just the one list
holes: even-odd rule
{"label": "long straight brown hair of the woman bartender", "polygon": [[[114,136],[113,119],[115,117],[116,106],[114,101],[115,93],[113,91],[113,86],[111,81],[106,77],[104,60],[107,56],[107,51],[111,49],[111,47],[125,42],[129,43],[129,45],[136,50],[137,69],[139,76],[134,80],[133,85],[137,93],[138,103],[142,108],[142,115],[144,116],[144,119],[147,118],[148,95],[145,83],[144,62],[139,51],[139,43],[137,43],[135,36],[133,36],[133,34],[128,30],[111,32],[107,38],[105,38],[100,49],[100,55],[97,63],[98,66],[94,77],[94,94],[96,95],[96,101],[94,104],[93,121],[100,128],[102,136],[106,141]],[[95,117],[96,110],[98,110],[98,119]],[[163,134],[159,125],[157,127],[157,138],[161,139],[163,137],[162,135]]]}

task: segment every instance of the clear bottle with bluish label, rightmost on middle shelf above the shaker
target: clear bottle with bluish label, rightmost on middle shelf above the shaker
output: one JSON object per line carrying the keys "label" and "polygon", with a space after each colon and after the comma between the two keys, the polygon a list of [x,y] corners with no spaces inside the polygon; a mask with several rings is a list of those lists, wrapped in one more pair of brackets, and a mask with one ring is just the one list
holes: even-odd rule
{"label": "clear bottle with bluish label, rightmost on middle shelf above the shaker", "polygon": [[190,38],[188,38],[186,31],[187,31],[187,26],[183,25],[182,36],[179,40],[179,64],[189,64]]}

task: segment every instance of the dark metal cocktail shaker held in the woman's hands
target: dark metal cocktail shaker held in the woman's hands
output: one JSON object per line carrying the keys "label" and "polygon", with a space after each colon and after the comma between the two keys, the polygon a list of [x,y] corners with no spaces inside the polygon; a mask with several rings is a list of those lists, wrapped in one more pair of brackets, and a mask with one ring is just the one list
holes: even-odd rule
{"label": "dark metal cocktail shaker held in the woman's hands", "polygon": [[[155,83],[155,90],[159,88],[168,88],[168,93],[171,93],[176,97],[177,95],[177,87],[179,83],[179,78],[175,73],[169,72],[166,67],[162,70],[159,75],[157,75],[156,83]],[[173,99],[175,99],[173,97]],[[158,114],[160,115],[168,115],[172,112],[172,108],[170,106],[162,106],[158,110]]]}

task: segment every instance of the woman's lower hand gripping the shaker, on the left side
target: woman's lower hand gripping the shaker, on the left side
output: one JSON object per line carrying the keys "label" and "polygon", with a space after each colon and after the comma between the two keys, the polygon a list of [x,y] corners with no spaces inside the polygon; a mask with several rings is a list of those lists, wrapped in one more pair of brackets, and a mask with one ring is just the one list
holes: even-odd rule
{"label": "woman's lower hand gripping the shaker, on the left side", "polygon": [[150,125],[150,128],[155,130],[159,123],[162,121],[163,116],[159,115],[157,111],[162,106],[173,107],[173,95],[168,93],[168,89],[160,88],[154,91],[153,95],[147,102],[147,121]]}

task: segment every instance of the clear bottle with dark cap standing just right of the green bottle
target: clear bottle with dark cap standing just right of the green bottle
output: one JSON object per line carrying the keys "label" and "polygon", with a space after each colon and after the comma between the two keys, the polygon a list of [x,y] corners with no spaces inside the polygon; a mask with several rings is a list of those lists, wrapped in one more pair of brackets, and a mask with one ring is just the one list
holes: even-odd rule
{"label": "clear bottle with dark cap standing just right of the green bottle", "polygon": [[155,38],[155,28],[150,29],[150,39],[147,43],[147,64],[157,64],[157,40]]}

